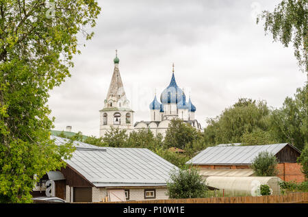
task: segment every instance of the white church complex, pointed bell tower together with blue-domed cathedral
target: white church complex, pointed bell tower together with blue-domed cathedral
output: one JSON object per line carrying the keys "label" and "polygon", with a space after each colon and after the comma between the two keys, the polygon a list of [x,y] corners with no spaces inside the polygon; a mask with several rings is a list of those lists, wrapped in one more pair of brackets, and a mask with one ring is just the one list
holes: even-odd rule
{"label": "white church complex, pointed bell tower together with blue-domed cathedral", "polygon": [[133,125],[133,110],[129,105],[129,100],[125,95],[123,82],[120,77],[118,64],[120,60],[114,58],[114,73],[110,88],[105,99],[105,106],[101,113],[101,123],[99,136],[105,136],[105,133],[112,127],[126,129],[127,133],[133,130],[150,129],[154,136],[161,133],[166,135],[168,125],[173,118],[179,118],[196,129],[201,129],[200,123],[195,119],[196,107],[191,99],[186,100],[185,93],[175,81],[174,66],[172,68],[172,77],[169,86],[160,95],[160,103],[155,97],[149,105],[150,120],[136,122]]}

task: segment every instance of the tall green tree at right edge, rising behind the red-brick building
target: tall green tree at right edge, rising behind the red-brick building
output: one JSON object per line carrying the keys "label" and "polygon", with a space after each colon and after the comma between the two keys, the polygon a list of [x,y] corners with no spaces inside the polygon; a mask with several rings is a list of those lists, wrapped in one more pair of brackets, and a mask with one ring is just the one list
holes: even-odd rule
{"label": "tall green tree at right edge, rising behind the red-brick building", "polygon": [[302,150],[308,144],[307,82],[298,88],[294,99],[287,97],[283,106],[270,116],[270,133],[279,142],[290,142]]}

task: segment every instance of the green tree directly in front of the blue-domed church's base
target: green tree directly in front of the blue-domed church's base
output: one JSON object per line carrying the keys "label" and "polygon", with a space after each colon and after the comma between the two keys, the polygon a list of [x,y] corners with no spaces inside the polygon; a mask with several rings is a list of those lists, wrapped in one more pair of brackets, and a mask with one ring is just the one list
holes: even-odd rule
{"label": "green tree directly in front of the blue-domed church's base", "polygon": [[169,123],[164,139],[164,145],[166,148],[177,147],[184,149],[185,144],[193,142],[194,140],[201,139],[202,134],[183,120],[179,118],[172,119]]}

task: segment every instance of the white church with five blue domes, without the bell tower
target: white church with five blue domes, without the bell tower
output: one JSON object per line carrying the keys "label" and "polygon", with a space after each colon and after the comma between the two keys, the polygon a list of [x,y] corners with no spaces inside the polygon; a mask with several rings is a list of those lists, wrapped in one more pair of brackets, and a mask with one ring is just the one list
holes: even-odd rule
{"label": "white church with five blue domes, without the bell tower", "polygon": [[159,100],[160,102],[155,94],[153,101],[149,105],[151,120],[135,123],[135,130],[146,128],[150,129],[155,136],[158,133],[165,136],[170,120],[173,118],[179,118],[183,122],[192,125],[192,127],[201,129],[200,123],[194,117],[196,107],[192,104],[190,97],[187,101],[185,92],[177,86],[174,64],[170,84],[160,94]]}

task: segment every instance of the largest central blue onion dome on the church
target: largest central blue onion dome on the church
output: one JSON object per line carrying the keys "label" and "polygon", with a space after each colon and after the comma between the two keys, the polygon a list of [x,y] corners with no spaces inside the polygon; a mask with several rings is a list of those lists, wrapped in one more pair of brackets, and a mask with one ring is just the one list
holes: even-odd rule
{"label": "largest central blue onion dome on the church", "polygon": [[160,95],[160,101],[163,104],[178,103],[181,101],[182,94],[183,91],[177,86],[177,82],[175,81],[175,73],[172,73],[170,84]]}

